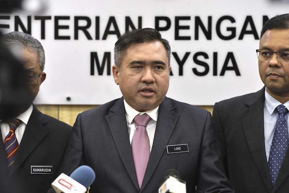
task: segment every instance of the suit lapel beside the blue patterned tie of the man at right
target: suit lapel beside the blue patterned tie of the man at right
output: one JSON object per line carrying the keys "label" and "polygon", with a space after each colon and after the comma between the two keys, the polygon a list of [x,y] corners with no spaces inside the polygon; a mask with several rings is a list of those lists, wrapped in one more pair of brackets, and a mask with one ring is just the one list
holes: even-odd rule
{"label": "suit lapel beside the blue patterned tie of the man at right", "polygon": [[[264,92],[258,91],[247,104],[249,107],[241,112],[241,120],[247,144],[259,174],[268,192],[272,192],[264,138]],[[251,102],[251,103],[250,103]]]}

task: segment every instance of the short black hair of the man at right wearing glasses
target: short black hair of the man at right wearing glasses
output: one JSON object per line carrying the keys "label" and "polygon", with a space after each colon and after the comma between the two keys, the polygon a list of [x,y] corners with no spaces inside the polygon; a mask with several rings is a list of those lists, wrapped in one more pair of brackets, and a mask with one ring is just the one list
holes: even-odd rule
{"label": "short black hair of the man at right wearing glasses", "polygon": [[289,29],[289,14],[277,15],[266,21],[261,30],[260,39],[268,29]]}

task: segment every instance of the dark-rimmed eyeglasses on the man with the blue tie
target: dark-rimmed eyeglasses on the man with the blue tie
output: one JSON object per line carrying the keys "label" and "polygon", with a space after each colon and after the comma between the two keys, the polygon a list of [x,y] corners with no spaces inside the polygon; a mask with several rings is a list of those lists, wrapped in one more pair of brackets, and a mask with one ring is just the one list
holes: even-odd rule
{"label": "dark-rimmed eyeglasses on the man with the blue tie", "polygon": [[270,50],[258,49],[258,50],[256,50],[256,52],[257,52],[258,59],[262,60],[262,61],[270,60],[272,58],[272,56],[273,56],[273,53],[276,53],[277,54],[277,59],[280,62],[289,62],[289,51],[286,51],[286,50],[272,52]]}

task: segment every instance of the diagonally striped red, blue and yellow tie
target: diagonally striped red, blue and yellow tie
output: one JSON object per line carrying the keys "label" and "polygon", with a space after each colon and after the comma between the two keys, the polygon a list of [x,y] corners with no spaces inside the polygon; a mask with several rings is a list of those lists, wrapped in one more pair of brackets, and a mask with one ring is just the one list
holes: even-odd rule
{"label": "diagonally striped red, blue and yellow tie", "polygon": [[16,135],[15,135],[15,130],[17,129],[17,127],[20,125],[21,122],[22,121],[19,119],[8,121],[10,131],[4,140],[8,171],[10,171],[12,168],[12,164],[14,162],[15,155],[19,147],[18,141],[16,139]]}

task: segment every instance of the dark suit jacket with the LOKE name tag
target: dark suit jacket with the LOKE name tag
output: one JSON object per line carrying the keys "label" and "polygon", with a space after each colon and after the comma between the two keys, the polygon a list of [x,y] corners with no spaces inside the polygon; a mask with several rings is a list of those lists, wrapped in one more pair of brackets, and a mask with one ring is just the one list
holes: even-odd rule
{"label": "dark suit jacket with the LOKE name tag", "polygon": [[[188,144],[188,152],[168,154],[167,145]],[[158,192],[168,169],[176,169],[187,182],[187,192],[233,192],[223,173],[221,152],[211,114],[199,107],[165,98],[147,170],[138,186],[129,142],[123,98],[77,116],[60,172],[70,175],[81,165],[96,173],[94,192]]]}

